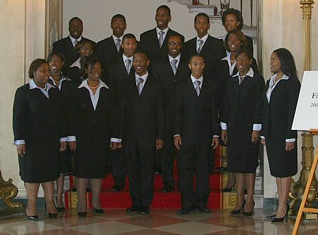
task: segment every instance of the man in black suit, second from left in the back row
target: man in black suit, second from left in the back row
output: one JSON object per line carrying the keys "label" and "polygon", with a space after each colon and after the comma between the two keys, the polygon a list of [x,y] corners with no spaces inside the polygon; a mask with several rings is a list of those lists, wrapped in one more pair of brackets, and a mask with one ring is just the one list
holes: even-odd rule
{"label": "man in black suit, second from left in the back row", "polygon": [[105,68],[123,53],[121,45],[126,30],[126,18],[121,14],[114,15],[110,21],[110,28],[112,28],[112,35],[98,42],[97,49]]}

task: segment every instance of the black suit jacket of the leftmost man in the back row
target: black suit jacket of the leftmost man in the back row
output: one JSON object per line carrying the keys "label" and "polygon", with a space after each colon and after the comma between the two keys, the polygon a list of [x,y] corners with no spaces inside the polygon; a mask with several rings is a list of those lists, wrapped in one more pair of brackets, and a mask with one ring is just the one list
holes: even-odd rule
{"label": "black suit jacket of the leftmost man in the back row", "polygon": [[[92,42],[94,47],[94,52],[95,52],[95,49],[96,49],[95,42],[83,36],[82,36],[82,40]],[[64,54],[65,56],[64,67],[66,68],[69,67],[71,64],[73,64],[73,62],[76,61],[76,59],[78,59],[79,57],[79,54],[74,49],[69,36],[62,38],[61,40],[58,40],[57,42],[54,42],[52,52],[60,52],[61,54]]]}

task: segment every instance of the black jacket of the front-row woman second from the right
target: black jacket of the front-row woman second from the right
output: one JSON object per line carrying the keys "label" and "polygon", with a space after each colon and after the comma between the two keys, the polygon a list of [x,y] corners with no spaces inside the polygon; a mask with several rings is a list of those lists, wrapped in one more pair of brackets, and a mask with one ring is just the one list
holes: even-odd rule
{"label": "black jacket of the front-row woman second from the right", "polygon": [[224,112],[220,120],[227,123],[228,128],[253,128],[254,123],[262,121],[263,76],[254,73],[246,76],[239,85],[237,76],[230,77],[226,83]]}

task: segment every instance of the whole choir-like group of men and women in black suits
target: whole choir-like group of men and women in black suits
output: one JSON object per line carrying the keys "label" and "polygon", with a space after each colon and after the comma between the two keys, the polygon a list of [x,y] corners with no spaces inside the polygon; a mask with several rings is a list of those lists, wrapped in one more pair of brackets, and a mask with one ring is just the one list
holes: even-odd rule
{"label": "whole choir-like group of men and women in black suits", "polygon": [[29,219],[38,219],[40,184],[49,217],[64,210],[64,174],[71,170],[78,215],[87,215],[88,182],[93,211],[103,213],[100,188],[109,164],[112,191],[122,191],[128,173],[132,206],[126,211],[148,215],[153,172],[160,165],[163,192],[173,191],[176,155],[182,203],[177,215],[209,213],[209,174],[219,143],[228,146],[228,171],[236,179],[237,205],[231,213],[253,214],[262,143],[278,187],[279,206],[270,219],[285,218],[291,176],[297,173],[297,132],[291,125],[300,82],[292,54],[283,48],[271,54],[273,77],[265,85],[252,38],[241,31],[240,11],[223,13],[228,33],[219,39],[208,35],[205,13],[195,16],[197,36],[187,42],[168,27],[170,20],[170,8],[159,6],[156,27],[138,42],[124,34],[126,19],[117,14],[110,23],[112,35],[96,44],[82,36],[83,22],[74,17],[69,37],[54,42],[47,61],[32,62],[30,83],[18,88],[13,104]]}

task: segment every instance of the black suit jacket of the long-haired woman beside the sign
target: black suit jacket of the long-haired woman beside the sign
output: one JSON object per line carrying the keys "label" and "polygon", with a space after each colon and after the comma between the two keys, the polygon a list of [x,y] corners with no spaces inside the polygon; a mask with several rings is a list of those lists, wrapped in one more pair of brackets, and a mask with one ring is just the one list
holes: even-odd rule
{"label": "black suit jacket of the long-haired woman beside the sign", "polygon": [[288,80],[280,80],[271,92],[271,100],[267,102],[266,91],[269,80],[263,92],[263,123],[261,135],[275,138],[297,138],[297,131],[292,131],[295,110],[300,92],[300,82],[290,76]]}

